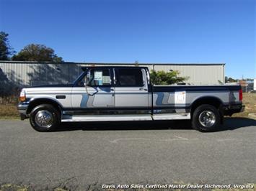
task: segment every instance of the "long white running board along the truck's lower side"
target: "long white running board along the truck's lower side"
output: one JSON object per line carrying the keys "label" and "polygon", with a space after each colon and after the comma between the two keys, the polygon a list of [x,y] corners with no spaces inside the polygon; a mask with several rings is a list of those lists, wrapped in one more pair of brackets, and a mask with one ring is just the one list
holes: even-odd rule
{"label": "long white running board along the truck's lower side", "polygon": [[190,113],[157,113],[139,115],[63,115],[61,122],[79,121],[152,121],[152,120],[179,120],[190,119]]}

